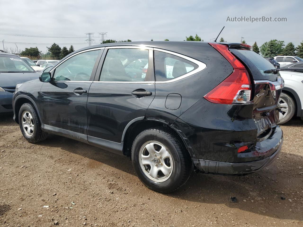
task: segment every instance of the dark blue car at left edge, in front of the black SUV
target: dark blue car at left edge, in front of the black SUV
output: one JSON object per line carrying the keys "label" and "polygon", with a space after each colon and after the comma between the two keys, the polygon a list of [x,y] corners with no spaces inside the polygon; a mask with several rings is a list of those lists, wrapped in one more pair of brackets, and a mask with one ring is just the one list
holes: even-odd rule
{"label": "dark blue car at left edge, in front of the black SUV", "polygon": [[17,84],[39,76],[15,54],[0,52],[0,113],[12,113],[12,98]]}

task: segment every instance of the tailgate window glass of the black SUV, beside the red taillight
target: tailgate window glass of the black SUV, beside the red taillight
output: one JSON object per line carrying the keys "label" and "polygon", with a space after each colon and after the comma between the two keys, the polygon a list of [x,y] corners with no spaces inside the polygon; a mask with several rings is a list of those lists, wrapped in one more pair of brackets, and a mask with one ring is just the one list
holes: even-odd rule
{"label": "tailgate window glass of the black SUV, beside the red taillight", "polygon": [[245,49],[232,49],[230,51],[235,54],[240,60],[242,60],[248,69],[251,71],[251,74],[255,81],[258,80],[269,80],[276,81],[277,74],[273,72],[266,72],[267,70],[275,70],[275,66],[273,66],[269,61],[265,58],[261,57],[259,54],[254,51],[249,51]]}

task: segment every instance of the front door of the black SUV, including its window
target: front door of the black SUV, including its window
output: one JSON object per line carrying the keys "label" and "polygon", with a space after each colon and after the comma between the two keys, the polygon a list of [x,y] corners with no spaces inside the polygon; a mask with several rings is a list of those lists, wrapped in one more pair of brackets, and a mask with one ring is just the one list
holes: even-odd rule
{"label": "front door of the black SUV, including its window", "polygon": [[88,90],[101,51],[103,49],[99,48],[79,52],[51,71],[52,81],[44,83],[40,91],[40,109],[46,130],[86,135]]}

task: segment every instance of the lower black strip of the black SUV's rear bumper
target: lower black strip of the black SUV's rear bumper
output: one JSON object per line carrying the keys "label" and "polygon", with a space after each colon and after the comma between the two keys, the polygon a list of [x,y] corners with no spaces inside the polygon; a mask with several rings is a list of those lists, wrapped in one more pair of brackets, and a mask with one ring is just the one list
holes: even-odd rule
{"label": "lower black strip of the black SUV's rear bumper", "polygon": [[[266,142],[268,145],[269,141]],[[270,153],[271,155],[258,161],[228,163],[197,158],[192,158],[192,161],[196,169],[200,170],[203,173],[218,175],[244,175],[248,173],[254,173],[260,169],[263,169],[265,166],[270,165],[281,152],[282,144],[283,134],[278,140],[278,143],[276,143],[270,149],[267,147],[268,150],[266,149],[265,153]]]}

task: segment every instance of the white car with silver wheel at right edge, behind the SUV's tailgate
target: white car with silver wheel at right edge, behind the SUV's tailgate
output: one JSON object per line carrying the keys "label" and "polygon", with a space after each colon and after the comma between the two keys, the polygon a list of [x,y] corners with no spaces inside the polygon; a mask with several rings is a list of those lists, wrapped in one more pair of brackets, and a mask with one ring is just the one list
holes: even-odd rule
{"label": "white car with silver wheel at right edge, behind the SUV's tailgate", "polygon": [[303,73],[279,71],[285,87],[279,99],[280,122],[288,122],[294,115],[303,120]]}

